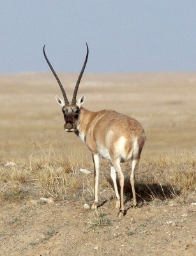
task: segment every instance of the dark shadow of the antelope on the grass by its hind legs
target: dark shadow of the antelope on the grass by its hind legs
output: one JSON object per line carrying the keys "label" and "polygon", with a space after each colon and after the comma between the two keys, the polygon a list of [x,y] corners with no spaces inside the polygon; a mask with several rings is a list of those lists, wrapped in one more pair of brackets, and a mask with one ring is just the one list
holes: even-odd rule
{"label": "dark shadow of the antelope on the grass by its hind legs", "polygon": [[[108,178],[107,181],[113,187],[112,179]],[[119,180],[117,179],[117,188],[120,192]],[[168,184],[159,184],[156,182],[145,183],[145,182],[135,182],[135,193],[137,196],[137,205],[138,207],[142,207],[147,203],[152,204],[167,204],[167,200],[174,198],[175,196],[180,194],[180,191],[176,188],[172,188],[172,186]],[[128,202],[132,202],[133,194],[132,194],[132,186],[130,184],[130,178],[126,177],[124,179],[124,204],[126,205]],[[128,207],[125,206],[124,215],[126,212],[132,208],[132,204]]]}

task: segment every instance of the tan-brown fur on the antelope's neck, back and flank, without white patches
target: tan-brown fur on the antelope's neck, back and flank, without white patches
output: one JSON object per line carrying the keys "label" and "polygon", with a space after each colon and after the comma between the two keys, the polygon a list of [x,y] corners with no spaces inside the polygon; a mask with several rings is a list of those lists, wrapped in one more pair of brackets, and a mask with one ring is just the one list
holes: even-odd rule
{"label": "tan-brown fur on the antelope's neck, back and flank, without white patches", "polygon": [[[85,134],[85,143],[92,154],[98,154],[98,145],[108,148],[112,157],[116,156],[114,147],[117,140],[123,136],[126,139],[124,150],[126,156],[130,154],[133,141],[137,138],[139,143],[139,155],[144,145],[144,129],[137,120],[111,110],[98,112],[80,109],[79,130]],[[112,131],[110,141],[106,141],[107,134]],[[121,159],[126,161],[129,159]]]}

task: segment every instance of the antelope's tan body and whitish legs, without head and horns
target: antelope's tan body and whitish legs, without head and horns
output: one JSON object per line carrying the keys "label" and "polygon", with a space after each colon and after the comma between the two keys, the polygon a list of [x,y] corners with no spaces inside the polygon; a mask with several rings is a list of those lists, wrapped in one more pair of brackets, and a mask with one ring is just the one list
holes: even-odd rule
{"label": "antelope's tan body and whitish legs, without head and horns", "polygon": [[123,187],[124,175],[121,171],[120,162],[132,161],[132,172],[130,180],[133,191],[133,207],[137,205],[135,188],[134,188],[134,170],[139,163],[142,147],[145,142],[145,133],[142,125],[137,120],[117,113],[111,110],[102,110],[92,112],[84,108],[80,108],[79,120],[77,121],[76,134],[80,132],[84,136],[84,142],[93,154],[94,161],[94,186],[95,198],[92,209],[96,209],[98,204],[98,157],[100,156],[111,161],[111,166],[114,166],[119,177],[121,186],[121,195],[119,202],[119,195],[116,187],[116,175],[111,167],[111,177],[114,182],[116,191],[117,202],[116,206],[119,207],[119,218],[124,215],[123,204]]}

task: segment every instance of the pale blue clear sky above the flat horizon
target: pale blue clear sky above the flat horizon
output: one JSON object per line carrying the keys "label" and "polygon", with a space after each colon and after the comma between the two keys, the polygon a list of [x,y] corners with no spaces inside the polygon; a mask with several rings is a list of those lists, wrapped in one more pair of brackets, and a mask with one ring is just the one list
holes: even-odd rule
{"label": "pale blue clear sky above the flat horizon", "polygon": [[196,1],[1,0],[0,73],[191,71]]}

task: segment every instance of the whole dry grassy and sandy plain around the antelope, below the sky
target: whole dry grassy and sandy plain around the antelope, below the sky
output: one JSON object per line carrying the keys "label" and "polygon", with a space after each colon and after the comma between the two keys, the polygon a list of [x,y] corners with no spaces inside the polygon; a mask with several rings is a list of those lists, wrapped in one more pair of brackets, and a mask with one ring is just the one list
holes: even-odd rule
{"label": "whole dry grassy and sandy plain around the antelope, below the sky", "polygon": [[[59,74],[69,100],[77,76]],[[82,78],[84,108],[114,109],[146,131],[135,175],[137,209],[130,165],[123,164],[123,220],[105,160],[100,207],[84,208],[93,202],[93,162],[86,145],[63,129],[52,74],[1,75],[0,88],[0,255],[195,255],[195,72]],[[54,204],[41,204],[41,197]]]}

